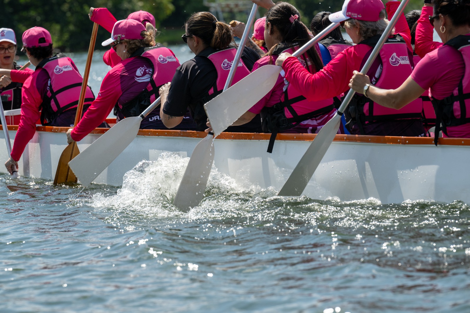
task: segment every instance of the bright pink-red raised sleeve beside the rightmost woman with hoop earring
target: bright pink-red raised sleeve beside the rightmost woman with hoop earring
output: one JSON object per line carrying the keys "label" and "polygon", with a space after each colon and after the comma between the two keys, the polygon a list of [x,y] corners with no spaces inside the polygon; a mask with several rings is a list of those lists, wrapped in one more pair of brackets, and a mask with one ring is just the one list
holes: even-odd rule
{"label": "bright pink-red raised sleeve beside the rightmost woman with hoop earring", "polygon": [[443,45],[442,42],[432,41],[433,27],[431,23],[429,23],[429,16],[433,16],[433,10],[433,7],[423,7],[421,10],[421,16],[416,24],[415,52],[421,58]]}

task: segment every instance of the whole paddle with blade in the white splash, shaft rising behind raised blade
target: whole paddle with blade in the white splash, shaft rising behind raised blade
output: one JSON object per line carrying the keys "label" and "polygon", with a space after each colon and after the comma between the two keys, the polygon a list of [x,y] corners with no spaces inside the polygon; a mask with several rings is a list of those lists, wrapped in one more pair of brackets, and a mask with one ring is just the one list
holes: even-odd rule
{"label": "whole paddle with blade in the white splash, shaft rising behind raised blade", "polygon": [[[232,84],[233,78],[235,76],[235,70],[238,67],[237,64],[242,56],[243,49],[248,39],[248,32],[250,31],[251,25],[255,20],[257,11],[258,5],[253,4],[250,16],[248,16],[248,21],[245,25],[245,30],[243,31],[242,38],[240,39],[240,44],[236,50],[232,67],[228,72],[227,81],[225,82],[222,94],[226,92],[227,88]],[[228,88],[228,90],[230,89],[231,88]],[[220,132],[224,131],[226,128],[227,127],[222,129]],[[203,199],[207,181],[209,180],[209,174],[211,173],[212,163],[214,162],[215,150],[212,140],[213,138],[214,134],[209,133],[196,145],[196,148],[191,154],[188,166],[184,171],[180,186],[178,187],[175,198],[173,199],[173,205],[181,211],[189,211],[189,208],[195,207]]]}

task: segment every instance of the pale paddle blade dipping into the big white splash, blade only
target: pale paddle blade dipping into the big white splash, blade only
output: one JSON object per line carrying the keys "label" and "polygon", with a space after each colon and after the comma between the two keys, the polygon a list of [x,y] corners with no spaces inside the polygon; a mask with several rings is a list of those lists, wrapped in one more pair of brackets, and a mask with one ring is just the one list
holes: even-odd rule
{"label": "pale paddle blade dipping into the big white splash, blade only", "polygon": [[183,212],[197,206],[204,196],[204,191],[214,162],[214,137],[209,134],[199,141],[184,171],[180,187],[176,192],[173,205]]}

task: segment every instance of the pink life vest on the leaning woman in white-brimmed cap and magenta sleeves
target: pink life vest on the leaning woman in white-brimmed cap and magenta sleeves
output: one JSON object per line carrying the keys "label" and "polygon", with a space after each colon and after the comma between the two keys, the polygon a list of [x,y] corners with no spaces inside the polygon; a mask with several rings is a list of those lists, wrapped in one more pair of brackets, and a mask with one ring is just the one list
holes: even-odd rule
{"label": "pink life vest on the leaning woman in white-brimmed cap and magenta sleeves", "polygon": [[[152,78],[147,88],[133,100],[122,105],[116,104],[115,109],[120,111],[125,117],[139,116],[149,107],[149,105],[157,99],[158,89],[172,81],[176,69],[180,66],[180,62],[172,51],[160,44],[154,47],[139,49],[133,56],[136,55],[149,59],[153,65],[153,69],[139,69],[142,72],[142,75],[140,75],[141,79],[149,79],[150,75]],[[147,73],[147,75],[143,75],[145,73]]]}

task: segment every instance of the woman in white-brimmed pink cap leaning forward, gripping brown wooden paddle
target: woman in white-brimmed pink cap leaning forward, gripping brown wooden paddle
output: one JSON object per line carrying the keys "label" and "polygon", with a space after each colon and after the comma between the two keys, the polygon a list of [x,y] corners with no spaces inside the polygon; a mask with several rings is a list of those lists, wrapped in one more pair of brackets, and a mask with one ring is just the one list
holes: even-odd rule
{"label": "woman in white-brimmed pink cap leaning forward, gripping brown wooden paddle", "polygon": [[[114,24],[111,38],[102,42],[110,45],[121,58],[103,78],[96,100],[73,130],[67,132],[67,142],[80,141],[94,130],[117,107],[124,117],[139,116],[158,97],[158,88],[170,81],[180,65],[172,51],[155,45],[152,33],[133,19]],[[155,129],[155,109],[141,122],[141,129]]]}

